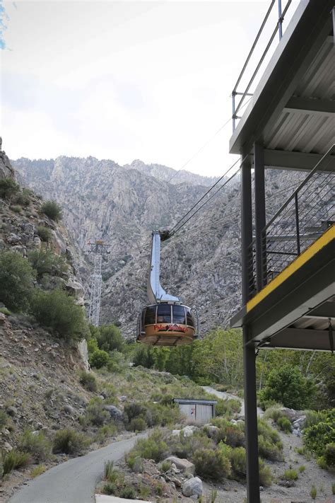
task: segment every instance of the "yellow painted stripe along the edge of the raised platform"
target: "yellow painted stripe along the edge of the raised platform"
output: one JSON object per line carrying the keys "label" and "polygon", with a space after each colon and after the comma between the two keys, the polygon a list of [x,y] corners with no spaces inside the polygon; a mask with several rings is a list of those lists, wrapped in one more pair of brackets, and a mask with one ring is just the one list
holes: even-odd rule
{"label": "yellow painted stripe along the edge of the raised platform", "polygon": [[265,299],[266,296],[271,294],[279,285],[288,279],[294,272],[296,272],[302,265],[304,265],[308,260],[310,260],[314,255],[316,255],[324,246],[328,245],[333,239],[335,239],[335,225],[332,225],[327,229],[327,231],[320,236],[317,241],[312,243],[304,252],[302,252],[299,257],[295,258],[293,262],[290,263],[283,271],[281,271],[278,276],[276,276],[272,281],[264,287],[258,294],[256,294],[253,299],[247,302],[247,313],[257,306],[259,302]]}

